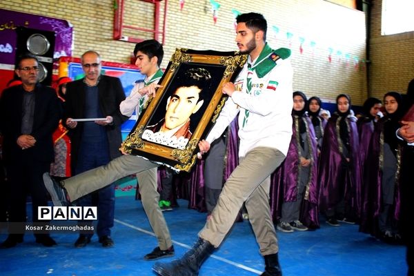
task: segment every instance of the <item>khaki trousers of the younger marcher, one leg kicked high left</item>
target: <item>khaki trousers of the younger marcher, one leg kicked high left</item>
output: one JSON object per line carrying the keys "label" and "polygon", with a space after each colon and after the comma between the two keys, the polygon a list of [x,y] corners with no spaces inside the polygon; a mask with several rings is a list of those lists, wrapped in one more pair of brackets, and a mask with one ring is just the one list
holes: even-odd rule
{"label": "khaki trousers of the younger marcher, one leg kicked high left", "polygon": [[144,206],[152,230],[158,239],[159,248],[166,250],[172,246],[172,242],[166,220],[158,205],[158,166],[134,155],[122,155],[121,157],[113,159],[105,166],[88,170],[80,175],[75,175],[75,177],[65,179],[62,181],[62,184],[68,192],[70,200],[75,201],[84,195],[88,195],[95,190],[112,184],[112,182],[122,177],[137,173],[142,206]]}

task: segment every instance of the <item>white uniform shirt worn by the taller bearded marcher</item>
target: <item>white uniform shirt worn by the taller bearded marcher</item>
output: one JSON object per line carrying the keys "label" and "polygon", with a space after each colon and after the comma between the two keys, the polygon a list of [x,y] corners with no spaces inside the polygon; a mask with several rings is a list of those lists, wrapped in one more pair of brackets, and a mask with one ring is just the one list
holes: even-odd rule
{"label": "white uniform shirt worn by the taller bearded marcher", "polygon": [[278,59],[262,79],[249,72],[252,88],[248,93],[248,63],[254,64],[250,57],[235,81],[239,91],[226,101],[206,141],[211,144],[220,137],[239,114],[239,157],[258,146],[277,148],[286,155],[292,137],[293,68],[288,59]]}

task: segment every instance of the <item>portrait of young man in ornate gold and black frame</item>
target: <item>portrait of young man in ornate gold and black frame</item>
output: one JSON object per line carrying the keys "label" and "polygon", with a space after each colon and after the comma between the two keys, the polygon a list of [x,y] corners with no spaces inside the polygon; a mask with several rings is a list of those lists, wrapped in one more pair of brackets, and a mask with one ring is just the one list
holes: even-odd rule
{"label": "portrait of young man in ornate gold and black frame", "polygon": [[233,81],[246,62],[238,52],[177,49],[157,89],[122,144],[122,150],[190,171],[197,144],[215,123],[227,99],[221,87]]}

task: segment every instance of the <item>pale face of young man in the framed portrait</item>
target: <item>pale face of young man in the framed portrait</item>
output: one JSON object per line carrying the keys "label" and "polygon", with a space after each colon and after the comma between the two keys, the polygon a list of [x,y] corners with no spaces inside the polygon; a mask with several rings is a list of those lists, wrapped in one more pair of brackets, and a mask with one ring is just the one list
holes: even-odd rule
{"label": "pale face of young man in the framed portrait", "polygon": [[204,102],[203,100],[198,101],[200,91],[197,86],[181,86],[168,99],[165,117],[165,127],[167,130],[184,125],[190,118],[190,115],[199,110]]}

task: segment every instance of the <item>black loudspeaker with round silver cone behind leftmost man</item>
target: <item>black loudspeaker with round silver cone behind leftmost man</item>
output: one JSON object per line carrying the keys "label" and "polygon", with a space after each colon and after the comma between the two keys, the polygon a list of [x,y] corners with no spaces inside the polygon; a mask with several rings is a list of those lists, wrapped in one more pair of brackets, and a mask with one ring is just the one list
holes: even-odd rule
{"label": "black loudspeaker with round silver cone behind leftmost man", "polygon": [[53,53],[55,52],[55,32],[19,27],[17,32],[16,60],[27,52],[39,59],[39,82],[52,84]]}

